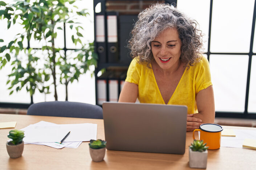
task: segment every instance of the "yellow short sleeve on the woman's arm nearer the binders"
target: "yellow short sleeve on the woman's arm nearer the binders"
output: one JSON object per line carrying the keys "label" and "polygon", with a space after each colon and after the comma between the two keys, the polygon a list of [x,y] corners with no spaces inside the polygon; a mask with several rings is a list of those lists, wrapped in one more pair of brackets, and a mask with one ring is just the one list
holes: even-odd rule
{"label": "yellow short sleeve on the woman's arm nearer the binders", "polygon": [[127,71],[127,76],[125,81],[134,84],[139,84],[139,78],[141,77],[141,65],[138,63],[137,59],[134,58]]}

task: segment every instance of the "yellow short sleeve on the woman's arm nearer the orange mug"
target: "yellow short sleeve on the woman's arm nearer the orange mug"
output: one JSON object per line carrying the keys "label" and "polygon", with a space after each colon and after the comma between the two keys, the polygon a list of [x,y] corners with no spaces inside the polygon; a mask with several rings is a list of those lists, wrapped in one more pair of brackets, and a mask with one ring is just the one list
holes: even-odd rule
{"label": "yellow short sleeve on the woman's arm nearer the orange mug", "polygon": [[212,85],[209,61],[203,56],[195,66],[195,93]]}

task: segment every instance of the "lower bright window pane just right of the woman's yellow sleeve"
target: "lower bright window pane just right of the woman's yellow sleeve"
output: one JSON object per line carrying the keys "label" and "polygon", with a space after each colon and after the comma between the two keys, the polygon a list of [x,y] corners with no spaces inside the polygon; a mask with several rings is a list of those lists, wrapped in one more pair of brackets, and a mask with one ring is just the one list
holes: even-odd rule
{"label": "lower bright window pane just right of the woman's yellow sleeve", "polygon": [[215,110],[244,112],[247,55],[210,55]]}

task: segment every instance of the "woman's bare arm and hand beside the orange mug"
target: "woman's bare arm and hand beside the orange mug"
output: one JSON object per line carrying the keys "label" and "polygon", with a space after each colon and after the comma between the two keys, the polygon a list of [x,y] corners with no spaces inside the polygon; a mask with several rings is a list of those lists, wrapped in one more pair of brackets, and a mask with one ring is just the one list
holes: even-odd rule
{"label": "woman's bare arm and hand beside the orange mug", "polygon": [[[200,90],[196,95],[198,114],[191,114],[187,117],[187,131],[193,131],[203,123],[214,123],[215,105],[212,85]],[[201,119],[202,122],[199,122]]]}

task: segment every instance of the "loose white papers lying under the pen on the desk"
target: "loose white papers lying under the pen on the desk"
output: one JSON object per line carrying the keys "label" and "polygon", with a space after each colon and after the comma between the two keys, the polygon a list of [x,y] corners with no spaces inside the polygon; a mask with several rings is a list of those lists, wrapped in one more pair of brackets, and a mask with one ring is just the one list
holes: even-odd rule
{"label": "loose white papers lying under the pen on the desk", "polygon": [[[92,123],[55,124],[41,121],[20,130],[25,131],[24,144],[46,145],[57,149],[77,148],[82,141],[97,139],[97,124]],[[69,136],[60,144],[69,131]]]}

